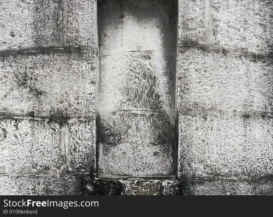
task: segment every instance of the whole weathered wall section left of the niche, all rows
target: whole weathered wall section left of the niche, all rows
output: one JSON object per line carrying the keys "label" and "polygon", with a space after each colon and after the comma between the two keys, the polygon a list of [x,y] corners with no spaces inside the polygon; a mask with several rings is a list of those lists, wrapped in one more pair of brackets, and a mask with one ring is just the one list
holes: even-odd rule
{"label": "whole weathered wall section left of the niche, all rows", "polygon": [[0,193],[86,194],[96,1],[1,1],[0,14]]}

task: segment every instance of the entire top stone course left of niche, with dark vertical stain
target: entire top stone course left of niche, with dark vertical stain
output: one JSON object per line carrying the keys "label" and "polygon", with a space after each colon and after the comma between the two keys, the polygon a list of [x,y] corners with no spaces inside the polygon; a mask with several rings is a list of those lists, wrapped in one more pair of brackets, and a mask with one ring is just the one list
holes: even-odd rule
{"label": "entire top stone course left of niche, with dark vertical stain", "polygon": [[0,11],[2,51],[96,45],[95,0],[7,0]]}

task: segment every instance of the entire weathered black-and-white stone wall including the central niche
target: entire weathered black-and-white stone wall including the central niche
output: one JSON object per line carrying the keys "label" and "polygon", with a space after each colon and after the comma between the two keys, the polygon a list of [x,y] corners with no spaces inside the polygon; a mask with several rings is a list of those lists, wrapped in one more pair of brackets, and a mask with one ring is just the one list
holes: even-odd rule
{"label": "entire weathered black-and-white stone wall including the central niche", "polygon": [[0,2],[0,194],[273,194],[273,2],[126,2]]}

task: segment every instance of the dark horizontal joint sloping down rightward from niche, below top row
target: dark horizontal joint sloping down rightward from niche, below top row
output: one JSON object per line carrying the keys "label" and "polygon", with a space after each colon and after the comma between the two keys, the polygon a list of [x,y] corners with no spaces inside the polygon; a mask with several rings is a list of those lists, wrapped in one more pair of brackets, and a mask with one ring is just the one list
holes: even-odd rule
{"label": "dark horizontal joint sloping down rightward from niche, below top row", "polygon": [[246,56],[252,56],[252,57],[265,57],[265,58],[273,58],[273,55],[267,55],[267,54],[257,54],[257,53],[253,53],[253,52],[246,52],[246,51],[241,51],[241,50],[231,50],[228,49],[226,47],[222,47],[222,46],[212,46],[212,45],[205,45],[205,44],[199,44],[199,43],[178,43],[179,45],[194,45],[194,47],[198,46],[198,47],[209,47],[211,48],[211,51],[221,51],[221,52],[230,52],[230,53],[242,53]]}

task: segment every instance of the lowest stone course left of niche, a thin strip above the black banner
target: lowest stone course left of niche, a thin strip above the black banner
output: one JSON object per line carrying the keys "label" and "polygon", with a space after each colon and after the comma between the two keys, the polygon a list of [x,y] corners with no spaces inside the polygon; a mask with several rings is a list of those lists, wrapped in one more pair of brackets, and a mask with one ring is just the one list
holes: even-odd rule
{"label": "lowest stone course left of niche, a thin strip above the black banner", "polygon": [[80,195],[87,181],[86,175],[0,175],[0,195]]}

